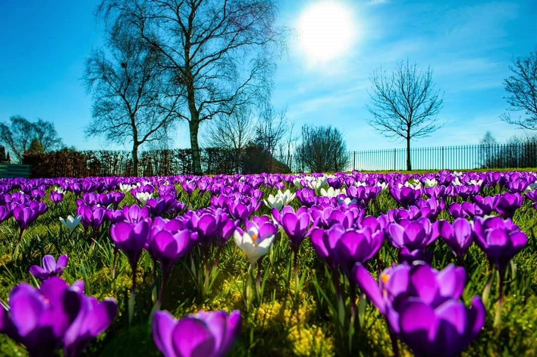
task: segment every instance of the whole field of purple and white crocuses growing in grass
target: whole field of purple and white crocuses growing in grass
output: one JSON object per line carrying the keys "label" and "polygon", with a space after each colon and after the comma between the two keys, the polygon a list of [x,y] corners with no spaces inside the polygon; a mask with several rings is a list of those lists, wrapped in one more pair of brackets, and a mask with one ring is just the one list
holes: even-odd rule
{"label": "whole field of purple and white crocuses growing in grass", "polygon": [[0,179],[0,355],[533,356],[537,173]]}

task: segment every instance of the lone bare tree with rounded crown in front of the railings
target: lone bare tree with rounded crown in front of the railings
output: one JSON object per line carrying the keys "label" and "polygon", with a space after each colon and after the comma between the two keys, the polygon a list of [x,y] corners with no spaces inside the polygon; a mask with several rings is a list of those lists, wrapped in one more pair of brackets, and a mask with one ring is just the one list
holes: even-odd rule
{"label": "lone bare tree with rounded crown in front of the railings", "polygon": [[391,74],[377,69],[369,78],[372,103],[366,108],[373,118],[368,123],[386,137],[407,141],[407,170],[411,170],[410,140],[429,136],[444,125],[436,117],[444,97],[434,88],[431,68],[420,70],[407,59]]}

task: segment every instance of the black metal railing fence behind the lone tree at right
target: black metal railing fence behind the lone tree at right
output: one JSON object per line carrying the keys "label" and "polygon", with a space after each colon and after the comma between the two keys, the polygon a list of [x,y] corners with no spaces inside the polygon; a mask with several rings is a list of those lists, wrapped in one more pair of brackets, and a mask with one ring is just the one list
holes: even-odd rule
{"label": "black metal railing fence behind the lone tree at right", "polygon": [[[291,172],[323,171],[308,167],[299,156],[275,157]],[[347,151],[333,159],[330,171],[404,171],[407,149]],[[537,167],[537,143],[476,144],[410,149],[412,170],[474,170]],[[326,171],[326,170],[324,170]]]}

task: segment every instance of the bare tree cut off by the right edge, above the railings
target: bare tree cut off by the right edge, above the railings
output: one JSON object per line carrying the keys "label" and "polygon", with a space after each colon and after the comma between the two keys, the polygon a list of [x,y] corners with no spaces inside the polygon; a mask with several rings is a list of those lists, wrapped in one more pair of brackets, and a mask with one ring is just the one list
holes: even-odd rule
{"label": "bare tree cut off by the right edge, above the railings", "polygon": [[526,58],[518,57],[509,66],[513,75],[504,81],[509,96],[504,97],[510,105],[507,111],[522,112],[523,116],[511,118],[502,114],[503,121],[521,128],[537,130],[537,48]]}

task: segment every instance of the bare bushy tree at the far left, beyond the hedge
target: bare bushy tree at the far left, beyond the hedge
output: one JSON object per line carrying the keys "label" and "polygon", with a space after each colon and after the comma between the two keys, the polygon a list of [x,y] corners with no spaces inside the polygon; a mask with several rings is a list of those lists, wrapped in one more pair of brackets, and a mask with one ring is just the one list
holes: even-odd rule
{"label": "bare bushy tree at the far left, beyond the hedge", "polygon": [[42,119],[31,122],[20,115],[13,115],[9,120],[10,125],[0,123],[0,142],[11,150],[18,162],[23,161],[24,153],[36,139],[43,151],[56,150],[63,146],[52,122]]}

